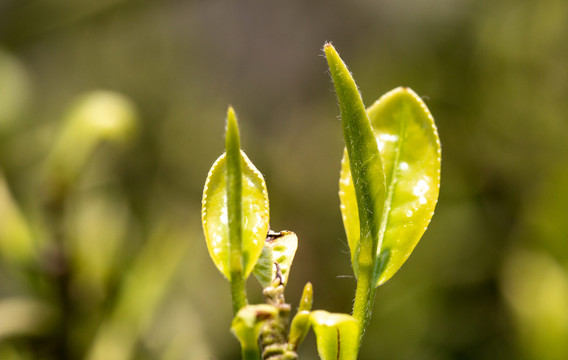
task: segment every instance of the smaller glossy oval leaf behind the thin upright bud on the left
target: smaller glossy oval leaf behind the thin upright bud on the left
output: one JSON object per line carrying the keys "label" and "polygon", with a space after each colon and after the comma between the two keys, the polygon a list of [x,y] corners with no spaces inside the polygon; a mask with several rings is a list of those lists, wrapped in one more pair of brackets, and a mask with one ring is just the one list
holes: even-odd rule
{"label": "smaller glossy oval leaf behind the thin upright bud on the left", "polygon": [[[252,272],[268,233],[268,191],[262,174],[241,151],[242,254],[245,278]],[[231,278],[229,266],[229,223],[227,209],[226,157],[211,167],[203,191],[201,219],[209,255],[217,269]]]}

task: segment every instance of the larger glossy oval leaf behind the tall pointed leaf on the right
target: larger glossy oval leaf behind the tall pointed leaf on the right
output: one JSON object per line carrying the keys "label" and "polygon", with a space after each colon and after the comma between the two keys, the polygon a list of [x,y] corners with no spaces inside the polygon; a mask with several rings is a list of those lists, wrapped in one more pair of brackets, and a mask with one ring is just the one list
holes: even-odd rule
{"label": "larger glossy oval leaf behind the tall pointed leaf on the right", "polygon": [[[389,280],[412,253],[438,200],[441,148],[434,119],[411,89],[390,91],[368,110],[386,176],[376,285]],[[355,178],[353,176],[353,178]],[[341,212],[350,247],[359,242],[356,189],[344,155],[339,182]]]}

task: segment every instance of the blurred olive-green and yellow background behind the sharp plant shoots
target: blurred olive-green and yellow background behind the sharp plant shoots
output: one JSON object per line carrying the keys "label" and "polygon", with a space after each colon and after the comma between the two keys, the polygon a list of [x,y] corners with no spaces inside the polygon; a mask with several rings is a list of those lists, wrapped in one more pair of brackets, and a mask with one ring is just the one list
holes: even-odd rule
{"label": "blurred olive-green and yellow background behind the sharp plant shoots", "polygon": [[228,104],[299,237],[288,302],[311,281],[349,312],[325,41],[367,105],[423,96],[443,146],[360,358],[568,359],[565,0],[0,0],[0,359],[239,357],[200,225]]}

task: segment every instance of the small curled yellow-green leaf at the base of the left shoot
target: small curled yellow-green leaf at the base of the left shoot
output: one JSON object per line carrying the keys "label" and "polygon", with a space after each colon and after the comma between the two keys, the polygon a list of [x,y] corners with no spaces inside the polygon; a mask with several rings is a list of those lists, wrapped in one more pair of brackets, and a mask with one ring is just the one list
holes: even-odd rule
{"label": "small curled yellow-green leaf at the base of the left shoot", "polygon": [[260,359],[258,337],[264,323],[278,316],[278,308],[259,304],[243,307],[231,324],[231,332],[239,339],[243,359]]}

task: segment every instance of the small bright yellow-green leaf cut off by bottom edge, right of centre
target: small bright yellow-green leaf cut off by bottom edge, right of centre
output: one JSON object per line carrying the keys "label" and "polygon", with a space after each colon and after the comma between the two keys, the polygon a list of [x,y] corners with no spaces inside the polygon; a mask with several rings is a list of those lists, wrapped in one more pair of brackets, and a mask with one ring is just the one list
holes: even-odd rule
{"label": "small bright yellow-green leaf cut off by bottom edge, right of centre", "polygon": [[359,322],[353,316],[316,310],[310,319],[322,360],[357,359]]}

